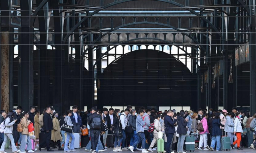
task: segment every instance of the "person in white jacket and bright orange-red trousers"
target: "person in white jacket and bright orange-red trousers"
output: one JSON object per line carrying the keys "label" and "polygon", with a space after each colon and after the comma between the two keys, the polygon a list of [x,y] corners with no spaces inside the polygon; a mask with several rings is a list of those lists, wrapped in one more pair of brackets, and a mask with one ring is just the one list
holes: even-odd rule
{"label": "person in white jacket and bright orange-red trousers", "polygon": [[234,148],[234,145],[237,144],[237,149],[236,150],[243,150],[240,148],[240,142],[242,140],[241,134],[243,133],[243,128],[242,128],[242,121],[241,121],[242,113],[237,112],[236,113],[236,118],[234,120],[234,135],[236,135],[236,141],[231,144],[232,149]]}

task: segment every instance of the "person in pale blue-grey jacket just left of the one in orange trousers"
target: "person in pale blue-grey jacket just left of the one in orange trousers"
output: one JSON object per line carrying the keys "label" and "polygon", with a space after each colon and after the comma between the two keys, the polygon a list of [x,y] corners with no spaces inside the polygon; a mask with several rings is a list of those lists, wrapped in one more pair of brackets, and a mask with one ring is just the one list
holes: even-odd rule
{"label": "person in pale blue-grey jacket just left of the one in orange trousers", "polygon": [[230,144],[233,143],[233,132],[234,132],[234,122],[233,118],[235,117],[235,113],[231,112],[226,116],[226,124],[225,124],[225,132],[227,132],[228,137],[230,138]]}

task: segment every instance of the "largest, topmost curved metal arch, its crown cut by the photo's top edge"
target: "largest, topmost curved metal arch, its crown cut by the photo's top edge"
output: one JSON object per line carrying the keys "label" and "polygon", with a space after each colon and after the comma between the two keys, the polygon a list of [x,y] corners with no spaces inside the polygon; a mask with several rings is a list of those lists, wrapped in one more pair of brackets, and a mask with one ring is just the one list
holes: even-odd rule
{"label": "largest, topmost curved metal arch, its crown cut by the photo's top edge", "polygon": [[[71,33],[73,33],[75,31],[76,28],[79,27],[79,25],[81,25],[86,19],[90,18],[91,16],[93,16],[94,14],[98,13],[99,11],[102,11],[103,9],[106,9],[108,7],[111,7],[111,6],[114,6],[116,4],[121,4],[121,3],[125,3],[125,2],[130,2],[130,1],[135,1],[135,0],[120,0],[120,1],[117,1],[117,2],[113,2],[113,3],[110,3],[108,5],[105,5],[104,7],[102,7],[102,9],[98,9],[94,12],[92,12],[91,14],[88,14],[87,17],[84,17],[83,19],[81,19],[81,21],[79,21],[70,31],[69,33],[67,33],[66,37],[64,38],[64,42],[67,41],[68,37],[71,35]],[[160,2],[165,2],[165,3],[169,3],[169,4],[173,4],[173,5],[176,5],[178,7],[181,7],[181,8],[184,8],[185,9],[185,6],[184,5],[181,5],[179,3],[176,3],[176,2],[173,2],[173,1],[169,1],[169,0],[155,0],[155,1],[160,1]],[[220,37],[222,38],[222,34],[220,33],[220,31],[209,21],[207,20],[205,17],[203,16],[200,16],[198,15],[198,13],[196,13],[196,11],[194,10],[191,10],[191,9],[188,9],[186,8],[185,10],[195,14],[197,17],[203,19],[206,23],[208,23],[208,25],[210,25],[213,30],[218,33],[218,35],[220,35]]]}

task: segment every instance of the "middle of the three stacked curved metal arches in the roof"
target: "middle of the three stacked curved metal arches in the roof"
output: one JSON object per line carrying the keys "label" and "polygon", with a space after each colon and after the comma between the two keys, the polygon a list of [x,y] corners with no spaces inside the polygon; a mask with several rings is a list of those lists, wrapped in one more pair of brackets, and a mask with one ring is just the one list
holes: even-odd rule
{"label": "middle of the three stacked curved metal arches in the roof", "polygon": [[[176,27],[174,27],[174,26],[172,26],[172,25],[166,25],[166,24],[163,24],[163,23],[145,22],[145,21],[144,21],[144,22],[134,22],[134,23],[128,23],[128,24],[125,24],[125,25],[120,25],[120,26],[114,28],[113,30],[108,31],[107,33],[104,33],[103,35],[101,35],[100,37],[98,37],[96,40],[94,40],[94,41],[90,44],[91,46],[88,47],[88,48],[86,48],[86,50],[84,51],[84,53],[85,53],[86,51],[88,51],[89,48],[92,48],[92,45],[95,44],[98,40],[100,40],[100,39],[101,39],[102,37],[104,37],[105,35],[107,35],[107,34],[113,32],[113,31],[115,31],[115,30],[117,30],[117,29],[119,29],[119,28],[123,28],[123,27],[125,27],[125,26],[130,26],[130,25],[137,25],[137,24],[163,25],[163,26],[172,28],[172,29],[174,29],[174,30],[176,30],[176,31],[178,31],[178,32],[180,31],[180,32],[184,33],[184,35],[186,35],[186,36],[188,36],[190,39],[192,39],[194,42],[196,42],[196,44],[198,44],[198,45],[201,47],[201,49],[206,50],[195,38],[191,37],[189,34],[185,33],[185,32],[182,31],[182,30],[179,30],[178,28],[176,28]],[[82,56],[84,55],[84,53],[82,54]]]}

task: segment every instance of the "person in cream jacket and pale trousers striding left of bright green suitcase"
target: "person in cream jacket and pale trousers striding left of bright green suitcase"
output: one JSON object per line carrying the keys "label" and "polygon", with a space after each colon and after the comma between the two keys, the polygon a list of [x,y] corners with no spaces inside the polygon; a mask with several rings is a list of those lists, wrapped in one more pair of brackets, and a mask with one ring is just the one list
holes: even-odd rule
{"label": "person in cream jacket and pale trousers striding left of bright green suitcase", "polygon": [[158,132],[162,131],[160,119],[161,119],[161,115],[160,114],[156,115],[156,119],[154,120],[154,125],[155,125],[154,133],[153,133],[154,138],[153,138],[153,140],[149,146],[149,149],[148,149],[148,151],[150,151],[150,152],[154,152],[153,147],[155,146],[155,144],[158,140]]}

